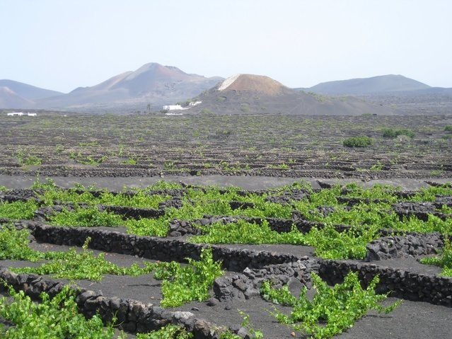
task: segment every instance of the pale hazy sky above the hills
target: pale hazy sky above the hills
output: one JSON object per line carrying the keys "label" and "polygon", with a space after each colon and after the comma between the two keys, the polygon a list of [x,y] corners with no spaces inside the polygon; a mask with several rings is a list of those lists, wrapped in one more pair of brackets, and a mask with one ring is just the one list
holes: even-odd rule
{"label": "pale hazy sky above the hills", "polygon": [[148,62],[291,87],[452,87],[451,0],[0,0],[0,24],[0,79],[63,92]]}

